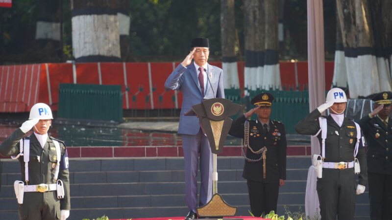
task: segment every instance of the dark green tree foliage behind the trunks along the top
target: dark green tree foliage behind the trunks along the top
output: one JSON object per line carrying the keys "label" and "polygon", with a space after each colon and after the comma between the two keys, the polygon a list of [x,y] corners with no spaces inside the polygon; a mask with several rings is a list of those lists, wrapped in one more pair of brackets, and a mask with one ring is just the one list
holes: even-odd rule
{"label": "dark green tree foliage behind the trunks along the top", "polygon": [[[0,64],[32,63],[38,4],[48,0],[14,0],[12,8],[0,8]],[[59,2],[59,0],[52,0]],[[63,52],[72,59],[71,0],[63,1]],[[325,48],[335,49],[334,1],[324,1]],[[220,0],[129,0],[129,61],[182,60],[190,40],[210,39],[210,60],[221,59]],[[284,44],[281,58],[307,59],[306,1],[284,0]],[[244,54],[244,0],[235,0],[235,26]],[[332,26],[332,27],[331,27]],[[236,55],[240,51],[236,50]]]}

